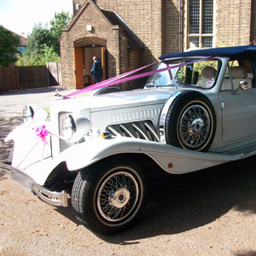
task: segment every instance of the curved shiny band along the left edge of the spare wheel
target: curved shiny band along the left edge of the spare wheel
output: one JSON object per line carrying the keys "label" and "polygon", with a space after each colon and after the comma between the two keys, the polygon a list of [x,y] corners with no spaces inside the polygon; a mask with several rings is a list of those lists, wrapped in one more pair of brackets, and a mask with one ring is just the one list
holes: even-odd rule
{"label": "curved shiny band along the left edge of the spare wheel", "polygon": [[172,102],[174,101],[174,99],[179,96],[180,94],[183,93],[182,91],[177,91],[176,93],[174,93],[166,102],[164,108],[162,109],[161,113],[160,113],[160,119],[159,119],[159,133],[160,133],[160,143],[166,143],[166,114],[169,110],[169,108],[172,105]]}

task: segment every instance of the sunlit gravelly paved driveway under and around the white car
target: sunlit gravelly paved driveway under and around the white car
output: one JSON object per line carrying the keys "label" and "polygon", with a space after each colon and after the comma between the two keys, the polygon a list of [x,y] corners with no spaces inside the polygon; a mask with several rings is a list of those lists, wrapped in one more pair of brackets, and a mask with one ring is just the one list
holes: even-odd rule
{"label": "sunlit gravelly paved driveway under and around the white car", "polygon": [[[26,103],[48,107],[54,90],[2,94],[1,116],[20,114]],[[3,137],[20,122],[0,119],[0,160],[9,154]],[[253,256],[255,171],[253,156],[182,176],[159,174],[150,183],[143,216],[117,236],[93,234],[77,221],[71,206],[49,206],[0,172],[0,255]]]}

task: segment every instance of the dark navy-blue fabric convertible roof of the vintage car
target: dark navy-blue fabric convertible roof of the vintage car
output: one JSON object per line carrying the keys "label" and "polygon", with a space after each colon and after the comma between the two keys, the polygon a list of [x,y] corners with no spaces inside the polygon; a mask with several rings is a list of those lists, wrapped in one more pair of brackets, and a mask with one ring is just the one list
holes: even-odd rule
{"label": "dark navy-blue fabric convertible roof of the vintage car", "polygon": [[230,57],[231,60],[256,59],[256,45],[197,49],[160,56],[160,60],[195,56]]}

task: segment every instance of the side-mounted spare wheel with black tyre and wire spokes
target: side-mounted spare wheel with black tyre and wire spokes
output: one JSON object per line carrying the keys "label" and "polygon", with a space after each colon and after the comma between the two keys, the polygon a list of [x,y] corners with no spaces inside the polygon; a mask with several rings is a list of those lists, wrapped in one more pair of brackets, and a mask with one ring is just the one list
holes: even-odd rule
{"label": "side-mounted spare wheel with black tyre and wire spokes", "polygon": [[179,148],[207,151],[216,130],[216,118],[207,96],[185,91],[172,102],[166,115],[166,143]]}

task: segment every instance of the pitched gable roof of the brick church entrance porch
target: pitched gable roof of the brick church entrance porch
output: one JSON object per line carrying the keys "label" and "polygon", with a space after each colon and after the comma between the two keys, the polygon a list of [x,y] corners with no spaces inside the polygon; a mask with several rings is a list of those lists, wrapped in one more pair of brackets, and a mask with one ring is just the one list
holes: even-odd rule
{"label": "pitched gable roof of the brick church entrance porch", "polygon": [[123,27],[123,29],[124,29],[123,33],[125,35],[125,38],[127,38],[127,40],[128,40],[127,44],[131,49],[144,49],[145,48],[145,45],[142,43],[142,41],[139,38],[137,38],[137,36],[131,31],[131,29],[128,26],[125,25],[125,22],[123,20],[121,20],[119,15],[115,14],[114,12],[100,9],[96,5],[96,3],[94,3],[91,0],[87,0],[84,3],[84,5],[79,9],[79,12],[77,13],[77,15],[75,15],[72,22],[67,27],[67,29],[63,29],[62,31],[68,31],[72,28],[72,26],[75,24],[76,20],[79,19],[79,16],[82,15],[85,7],[88,4],[91,4],[91,6],[96,10],[96,12],[100,16],[102,16],[102,19],[105,20],[105,22],[108,24],[108,26],[110,28],[113,28],[113,26]]}

